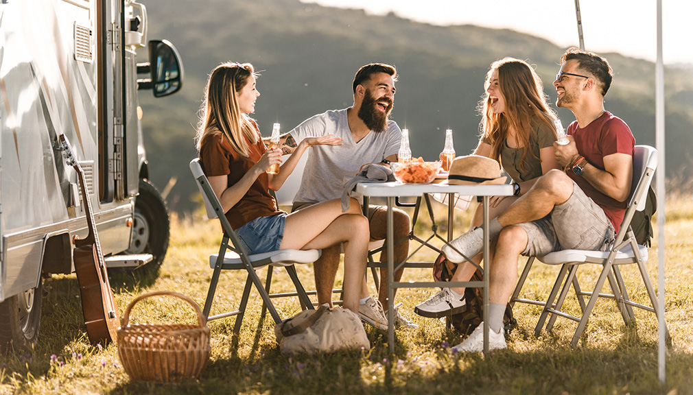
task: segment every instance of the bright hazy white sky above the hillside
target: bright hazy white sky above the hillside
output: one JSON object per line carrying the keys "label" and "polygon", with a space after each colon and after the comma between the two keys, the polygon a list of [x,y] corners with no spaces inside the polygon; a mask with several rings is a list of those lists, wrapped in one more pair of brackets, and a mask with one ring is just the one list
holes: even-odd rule
{"label": "bright hazy white sky above the hillside", "polygon": [[[301,0],[323,6],[363,8],[374,15],[394,12],[430,24],[475,24],[511,28],[577,46],[574,0]],[[423,5],[422,5],[423,4]],[[618,52],[654,61],[657,55],[656,0],[580,0],[585,49]],[[693,63],[693,0],[663,0],[663,58]]]}

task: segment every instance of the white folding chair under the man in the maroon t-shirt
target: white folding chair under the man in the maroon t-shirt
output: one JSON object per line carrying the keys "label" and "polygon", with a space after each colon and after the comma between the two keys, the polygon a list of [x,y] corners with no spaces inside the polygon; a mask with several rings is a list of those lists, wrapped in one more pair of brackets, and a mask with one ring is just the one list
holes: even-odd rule
{"label": "white folding chair under the man in the maroon t-shirt", "polygon": [[[546,326],[547,331],[552,329],[556,317],[565,317],[579,323],[571,342],[571,344],[575,346],[585,330],[588,319],[590,318],[595,303],[597,302],[597,297],[608,297],[615,299],[626,324],[629,324],[629,322],[634,319],[632,307],[649,310],[652,313],[655,313],[657,316],[660,314],[658,311],[659,305],[657,296],[649,279],[649,274],[647,274],[647,268],[644,265],[648,256],[647,247],[638,245],[630,227],[633,213],[635,213],[636,210],[642,211],[642,209],[644,209],[647,190],[652,181],[653,173],[656,167],[657,150],[650,146],[635,146],[635,152],[633,155],[633,182],[631,184],[631,198],[629,200],[625,216],[621,222],[621,229],[615,236],[611,249],[608,251],[565,249],[563,251],[552,252],[545,256],[536,257],[538,261],[541,261],[547,265],[561,265],[561,271],[559,272],[558,278],[554,283],[547,301],[545,304],[543,304],[544,308],[535,328],[536,335],[541,333],[544,322],[549,315],[551,315],[551,317]],[[580,291],[579,286],[577,286],[577,281],[574,281],[577,268],[584,264],[602,265],[602,272],[599,274],[599,278],[597,279],[597,283],[595,284],[595,288],[592,292]],[[638,265],[640,276],[642,277],[642,281],[647,290],[647,295],[649,296],[652,307],[635,303],[629,299],[628,292],[626,292],[625,284],[618,266],[630,264]],[[565,283],[563,283],[564,277]],[[604,282],[607,279],[611,284],[613,294],[600,293],[602,292]],[[581,317],[574,317],[561,310],[563,301],[565,300],[571,285],[575,288],[578,297],[589,297],[587,304],[584,306],[581,305]],[[558,295],[558,299],[556,299],[556,295]],[[554,299],[556,299],[555,304]]]}

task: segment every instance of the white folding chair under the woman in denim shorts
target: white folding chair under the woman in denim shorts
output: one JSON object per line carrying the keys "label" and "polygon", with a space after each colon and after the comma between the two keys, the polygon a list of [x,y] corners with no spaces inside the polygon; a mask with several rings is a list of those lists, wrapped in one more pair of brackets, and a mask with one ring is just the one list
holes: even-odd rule
{"label": "white folding chair under the woman in denim shorts", "polygon": [[[268,293],[268,287],[267,289],[263,288],[262,283],[255,272],[256,270],[268,265],[270,267],[285,267],[286,272],[288,272],[296,288],[296,293],[280,294],[279,296],[298,296],[299,301],[301,302],[301,308],[312,309],[313,303],[310,301],[310,299],[308,299],[306,291],[304,290],[303,286],[301,286],[294,263],[313,263],[317,260],[317,258],[319,258],[320,250],[278,249],[276,251],[265,252],[263,254],[247,254],[245,247],[243,247],[243,245],[241,245],[239,242],[238,235],[236,235],[234,229],[231,229],[231,225],[229,225],[229,221],[224,215],[221,204],[219,203],[219,200],[207,181],[207,176],[204,175],[200,159],[195,158],[190,161],[190,170],[195,177],[195,182],[197,182],[198,188],[200,188],[200,193],[202,193],[204,207],[207,209],[207,217],[209,219],[219,218],[222,229],[224,230],[224,236],[222,237],[218,254],[211,254],[209,256],[209,265],[213,268],[214,272],[209,283],[207,299],[204,301],[204,309],[202,310],[202,313],[205,317],[207,317],[207,320],[210,321],[212,319],[238,315],[236,318],[236,324],[234,326],[234,332],[239,333],[240,324],[243,321],[243,315],[245,313],[245,307],[247,306],[250,287],[251,284],[254,284],[256,290],[263,299],[263,310],[266,307],[267,310],[270,311],[270,315],[272,315],[274,322],[279,324],[279,322],[281,322],[281,317],[279,317],[277,309],[274,308],[274,305],[272,304],[270,295]],[[211,304],[214,299],[214,293],[216,292],[216,286],[219,280],[219,275],[222,270],[247,271],[247,279],[245,281],[243,297],[240,299],[240,306],[238,307],[238,310],[209,316]]]}

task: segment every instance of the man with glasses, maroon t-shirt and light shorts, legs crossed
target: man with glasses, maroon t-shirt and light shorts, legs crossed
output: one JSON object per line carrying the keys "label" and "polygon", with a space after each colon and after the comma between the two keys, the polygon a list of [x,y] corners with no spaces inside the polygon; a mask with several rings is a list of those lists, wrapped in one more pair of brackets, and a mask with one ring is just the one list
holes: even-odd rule
{"label": "man with glasses, maroon t-shirt and light shorts, legs crossed", "polygon": [[[556,162],[498,218],[491,220],[489,348],[505,349],[502,319],[517,282],[518,256],[541,256],[561,249],[608,249],[620,228],[631,192],[635,139],[628,125],[604,109],[612,70],[606,59],[568,49],[554,87],[556,105],[572,111],[568,143],[554,143]],[[443,247],[461,263],[481,252],[478,227]],[[480,325],[457,351],[482,351]]]}

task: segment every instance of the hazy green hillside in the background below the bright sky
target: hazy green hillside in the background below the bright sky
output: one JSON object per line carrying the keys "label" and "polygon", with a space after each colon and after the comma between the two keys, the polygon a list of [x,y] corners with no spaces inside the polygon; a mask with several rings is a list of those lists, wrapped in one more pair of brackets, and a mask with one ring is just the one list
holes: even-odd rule
{"label": "hazy green hillside in the background below the bright sky", "polygon": [[[208,73],[220,62],[252,62],[262,71],[262,96],[253,116],[265,135],[274,122],[288,132],[313,114],[348,107],[360,66],[394,64],[400,80],[392,118],[410,129],[414,156],[433,160],[443,148],[446,128],[454,131],[458,155],[475,147],[476,105],[491,62],[512,56],[536,65],[553,102],[551,83],[565,50],[512,30],[431,26],[298,0],[170,0],[146,6],[149,39],[173,42],[185,68],[178,94],[164,99],[141,95],[150,175],[159,188],[177,177],[168,195],[170,208],[177,211],[194,207],[197,191],[187,164],[196,154],[196,113]],[[606,108],[629,123],[638,143],[654,145],[653,63],[601,55],[616,73]],[[693,179],[687,149],[693,127],[691,71],[667,69],[667,175],[683,180]],[[574,119],[565,109],[559,115],[565,125]]]}

